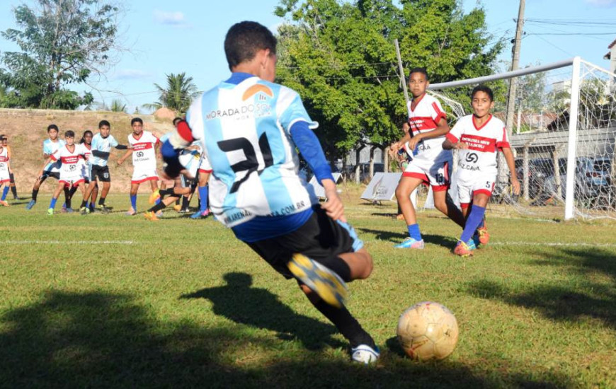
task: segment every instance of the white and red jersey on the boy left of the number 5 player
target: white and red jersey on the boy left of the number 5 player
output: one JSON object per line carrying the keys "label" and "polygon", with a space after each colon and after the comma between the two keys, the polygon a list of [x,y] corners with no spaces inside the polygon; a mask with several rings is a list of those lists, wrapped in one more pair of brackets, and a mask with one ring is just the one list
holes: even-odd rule
{"label": "white and red jersey on the boy left of the number 5 player", "polygon": [[[420,98],[413,100],[416,103],[415,109],[411,109],[412,103],[409,103],[409,126],[413,135],[424,134],[433,131],[438,127],[438,122],[441,119],[446,119],[447,114],[440,106],[440,103],[433,96],[424,94]],[[451,158],[449,150],[443,150],[443,141],[445,136],[440,136],[431,139],[423,139],[417,145],[414,151],[414,158],[423,159],[424,161],[437,161],[443,158]]]}

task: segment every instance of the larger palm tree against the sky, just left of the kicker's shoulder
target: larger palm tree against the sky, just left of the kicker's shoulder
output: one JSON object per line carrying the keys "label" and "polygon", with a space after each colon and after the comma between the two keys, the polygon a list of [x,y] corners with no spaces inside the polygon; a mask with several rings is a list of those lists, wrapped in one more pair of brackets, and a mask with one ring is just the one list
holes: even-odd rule
{"label": "larger palm tree against the sky, just left of the kicker's shoulder", "polygon": [[159,93],[159,100],[152,104],[144,104],[144,108],[157,110],[165,107],[178,113],[185,113],[193,99],[199,95],[193,77],[187,77],[186,72],[166,74],[166,77],[166,88],[154,83]]}

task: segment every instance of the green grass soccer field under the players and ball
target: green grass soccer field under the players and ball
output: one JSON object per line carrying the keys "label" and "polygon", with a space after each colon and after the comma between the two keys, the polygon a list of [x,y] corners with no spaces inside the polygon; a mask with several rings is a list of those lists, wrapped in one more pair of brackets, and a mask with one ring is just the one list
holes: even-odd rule
{"label": "green grass soccer field under the players and ball", "polygon": [[[348,307],[377,366],[351,364],[295,282],[213,219],[124,216],[126,195],[110,215],[50,217],[40,196],[0,209],[0,387],[616,388],[614,223],[493,216],[491,245],[460,259],[452,222],[423,212],[426,250],[395,250],[394,205],[357,197],[343,199],[375,270]],[[445,361],[411,361],[395,339],[426,300],[460,326]]]}

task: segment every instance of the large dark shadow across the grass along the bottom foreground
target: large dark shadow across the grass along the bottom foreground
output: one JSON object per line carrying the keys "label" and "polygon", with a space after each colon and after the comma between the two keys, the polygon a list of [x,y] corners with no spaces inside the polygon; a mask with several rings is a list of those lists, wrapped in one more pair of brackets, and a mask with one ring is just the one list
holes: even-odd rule
{"label": "large dark shadow across the grass along the bottom foreground", "polygon": [[[250,301],[244,303],[248,305]],[[385,347],[380,365],[368,368],[321,352],[294,352],[278,339],[255,337],[236,327],[233,330],[212,328],[187,320],[161,322],[153,316],[132,296],[103,292],[50,291],[40,301],[6,310],[0,316],[0,386],[259,389],[571,386],[568,378],[549,371],[535,370],[528,374],[519,373],[523,368],[485,371],[484,366],[471,369],[455,361],[421,364]]]}

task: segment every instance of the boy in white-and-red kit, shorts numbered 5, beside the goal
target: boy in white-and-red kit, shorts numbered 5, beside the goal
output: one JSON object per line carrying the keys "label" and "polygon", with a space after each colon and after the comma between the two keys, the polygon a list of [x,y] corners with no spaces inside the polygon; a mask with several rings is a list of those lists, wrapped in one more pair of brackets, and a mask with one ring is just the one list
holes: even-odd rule
{"label": "boy in white-and-red kit, shorts numbered 5, beside the goal", "polygon": [[462,257],[472,255],[477,248],[472,239],[476,230],[480,243],[487,244],[489,240],[487,229],[481,223],[496,183],[497,151],[505,155],[512,173],[513,192],[520,193],[505,124],[490,113],[494,108],[494,93],[487,86],[479,85],[473,89],[471,99],[473,114],[458,120],[443,142],[443,149],[458,150],[457,192],[467,221],[454,252]]}

